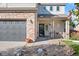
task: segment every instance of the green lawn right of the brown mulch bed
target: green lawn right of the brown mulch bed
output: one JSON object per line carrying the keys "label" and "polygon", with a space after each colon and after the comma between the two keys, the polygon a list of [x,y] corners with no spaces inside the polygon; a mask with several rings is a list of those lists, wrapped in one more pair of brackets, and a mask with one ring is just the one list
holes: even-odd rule
{"label": "green lawn right of the brown mulch bed", "polygon": [[74,49],[75,51],[74,56],[79,56],[79,44],[75,44],[72,41],[64,41],[64,42]]}

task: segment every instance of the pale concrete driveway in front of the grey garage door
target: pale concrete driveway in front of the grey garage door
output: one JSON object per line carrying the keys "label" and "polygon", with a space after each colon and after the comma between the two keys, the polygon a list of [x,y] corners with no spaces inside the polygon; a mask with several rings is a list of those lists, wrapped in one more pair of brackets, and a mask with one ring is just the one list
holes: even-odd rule
{"label": "pale concrete driveway in front of the grey garage door", "polygon": [[26,42],[19,41],[0,41],[0,51],[6,51],[9,48],[24,46]]}

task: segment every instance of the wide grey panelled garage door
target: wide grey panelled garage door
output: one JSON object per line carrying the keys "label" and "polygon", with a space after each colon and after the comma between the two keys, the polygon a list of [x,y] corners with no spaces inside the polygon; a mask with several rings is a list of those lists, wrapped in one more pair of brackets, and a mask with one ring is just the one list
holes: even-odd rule
{"label": "wide grey panelled garage door", "polygon": [[26,21],[0,21],[0,41],[24,41]]}

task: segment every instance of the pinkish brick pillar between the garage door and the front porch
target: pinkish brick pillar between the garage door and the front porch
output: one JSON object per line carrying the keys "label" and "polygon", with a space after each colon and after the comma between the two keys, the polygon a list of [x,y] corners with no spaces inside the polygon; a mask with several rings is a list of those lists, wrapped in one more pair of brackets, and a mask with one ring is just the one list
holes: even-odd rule
{"label": "pinkish brick pillar between the garage door and the front porch", "polygon": [[35,34],[36,34],[36,17],[35,14],[31,14],[31,16],[29,16],[27,18],[27,38],[32,39],[33,41],[35,41]]}

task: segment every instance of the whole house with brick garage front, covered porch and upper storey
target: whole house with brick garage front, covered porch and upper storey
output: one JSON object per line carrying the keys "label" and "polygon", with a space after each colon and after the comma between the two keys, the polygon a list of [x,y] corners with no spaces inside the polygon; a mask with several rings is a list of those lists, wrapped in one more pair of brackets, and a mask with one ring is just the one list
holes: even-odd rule
{"label": "whole house with brick garage front, covered porch and upper storey", "polygon": [[0,4],[0,41],[69,38],[65,3]]}

